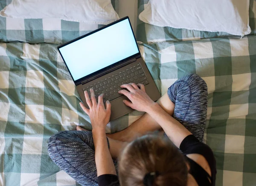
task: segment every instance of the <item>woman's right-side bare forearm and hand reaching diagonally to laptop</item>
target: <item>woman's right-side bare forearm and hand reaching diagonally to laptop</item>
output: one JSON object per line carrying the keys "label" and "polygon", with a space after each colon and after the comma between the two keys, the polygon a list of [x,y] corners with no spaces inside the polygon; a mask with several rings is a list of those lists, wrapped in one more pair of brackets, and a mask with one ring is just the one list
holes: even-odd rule
{"label": "woman's right-side bare forearm and hand reaching diagonally to laptop", "polygon": [[[140,87],[140,89],[138,88]],[[124,94],[130,101],[124,100],[124,103],[132,109],[147,112],[154,120],[163,128],[167,136],[179,148],[180,143],[185,137],[191,134],[180,122],[166,113],[158,103],[155,103],[145,92],[145,86],[142,84],[135,85],[134,83],[122,85],[120,94]]]}

